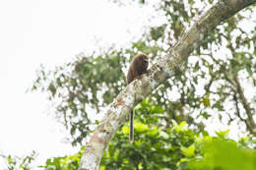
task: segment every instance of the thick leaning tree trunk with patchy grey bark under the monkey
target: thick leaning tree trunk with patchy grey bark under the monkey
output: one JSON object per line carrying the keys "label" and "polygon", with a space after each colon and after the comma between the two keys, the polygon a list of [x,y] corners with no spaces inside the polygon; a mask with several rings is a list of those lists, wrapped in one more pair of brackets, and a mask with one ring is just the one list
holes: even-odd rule
{"label": "thick leaning tree trunk with patchy grey bark under the monkey", "polygon": [[189,54],[200,45],[201,41],[214,28],[238,11],[255,3],[256,0],[220,0],[183,35],[171,48],[169,54],[161,58],[149,70],[147,75],[127,85],[109,105],[90,142],[86,144],[86,150],[81,158],[79,169],[97,170],[108,142],[110,142],[134,106],[161,83],[173,76],[175,72],[182,72],[182,62],[187,59]]}

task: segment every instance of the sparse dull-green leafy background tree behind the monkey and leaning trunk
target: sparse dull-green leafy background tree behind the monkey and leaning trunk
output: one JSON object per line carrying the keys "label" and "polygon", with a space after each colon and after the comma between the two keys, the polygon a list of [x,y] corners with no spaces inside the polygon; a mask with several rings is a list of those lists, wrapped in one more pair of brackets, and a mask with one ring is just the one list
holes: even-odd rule
{"label": "sparse dull-green leafy background tree behind the monkey and leaning trunk", "polygon": [[[140,3],[147,5],[145,1]],[[42,68],[32,88],[48,91],[49,99],[58,101],[57,117],[70,130],[73,144],[81,143],[93,130],[90,125],[97,123],[90,113],[101,111],[125,86],[123,71],[131,57],[143,51],[155,63],[154,57],[166,55],[185,28],[193,24],[192,19],[210,3],[161,1],[155,4],[156,10],[164,14],[166,22],[145,28],[131,48],[81,54],[55,71]],[[249,88],[245,87],[255,86],[255,23],[250,22],[251,28],[243,25],[253,19],[252,15],[255,10],[249,7],[204,38],[203,45],[183,65],[185,74],[177,74],[160,85],[143,102],[148,107],[143,107],[143,103],[138,106],[145,111],[138,114],[136,110],[137,121],[149,127],[158,126],[164,132],[173,126],[171,119],[185,120],[196,132],[205,133],[203,123],[218,117],[222,123],[238,125],[241,132],[254,135],[256,93],[246,95]]]}

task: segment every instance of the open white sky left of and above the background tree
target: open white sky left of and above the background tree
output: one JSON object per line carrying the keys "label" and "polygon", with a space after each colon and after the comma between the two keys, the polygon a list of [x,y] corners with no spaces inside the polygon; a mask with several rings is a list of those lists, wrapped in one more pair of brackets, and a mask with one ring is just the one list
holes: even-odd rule
{"label": "open white sky left of and above the background tree", "polygon": [[0,1],[0,153],[22,156],[34,149],[40,164],[75,153],[62,142],[67,132],[49,116],[45,95],[26,93],[35,70],[94,50],[95,39],[100,45],[124,44],[132,38],[127,30],[140,33],[148,15],[107,0]]}

